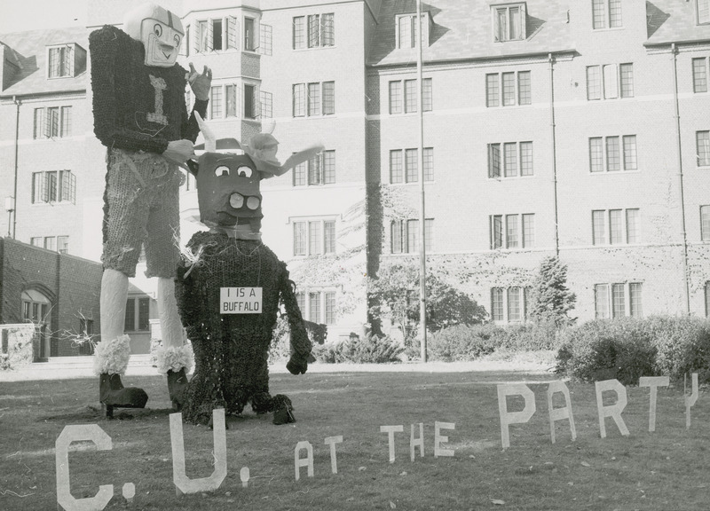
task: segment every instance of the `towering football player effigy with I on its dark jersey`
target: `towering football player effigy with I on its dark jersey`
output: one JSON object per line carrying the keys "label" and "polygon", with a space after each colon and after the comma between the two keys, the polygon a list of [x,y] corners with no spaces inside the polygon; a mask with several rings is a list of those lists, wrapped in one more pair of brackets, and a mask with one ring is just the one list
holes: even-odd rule
{"label": "towering football player effigy with I on its dark jersey", "polygon": [[104,193],[104,273],[101,280],[101,342],[94,354],[99,399],[106,416],[114,408],[146,405],[143,389],[123,388],[130,339],[123,334],[128,279],[135,276],[141,248],[147,277],[158,277],[157,303],[162,348],[158,370],[168,378],[170,400],[182,405],[185,372],[192,351],[185,340],[175,301],[173,277],[179,261],[178,166],[193,155],[199,133],[188,116],[185,86],[190,83],[193,112],[207,110],[211,71],[202,74],[176,63],[185,36],[172,12],[140,4],[127,12],[122,29],[106,25],[91,33],[91,89],[94,132],[106,145]]}

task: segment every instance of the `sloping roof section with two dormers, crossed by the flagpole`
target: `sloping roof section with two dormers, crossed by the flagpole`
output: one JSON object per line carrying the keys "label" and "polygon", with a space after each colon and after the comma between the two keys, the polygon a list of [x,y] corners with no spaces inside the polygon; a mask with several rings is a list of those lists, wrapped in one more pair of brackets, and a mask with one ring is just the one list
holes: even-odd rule
{"label": "sloping roof section with two dormers, crossed by the flagpole", "polygon": [[[493,59],[517,55],[572,51],[567,0],[528,0],[524,41],[497,43],[493,38],[491,5],[515,0],[426,0],[430,12],[430,46],[422,49],[424,62],[456,59]],[[414,49],[395,48],[395,18],[416,12],[415,0],[384,0],[367,64],[388,66],[414,60]]]}

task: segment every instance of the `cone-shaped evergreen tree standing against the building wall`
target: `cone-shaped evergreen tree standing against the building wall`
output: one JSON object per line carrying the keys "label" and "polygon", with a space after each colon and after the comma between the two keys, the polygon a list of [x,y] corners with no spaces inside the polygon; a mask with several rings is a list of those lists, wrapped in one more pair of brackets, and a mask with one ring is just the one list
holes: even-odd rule
{"label": "cone-shaped evergreen tree standing against the building wall", "polygon": [[550,322],[556,327],[569,325],[577,296],[567,288],[567,266],[559,257],[548,256],[540,263],[540,271],[533,283],[533,307],[530,317],[535,323]]}

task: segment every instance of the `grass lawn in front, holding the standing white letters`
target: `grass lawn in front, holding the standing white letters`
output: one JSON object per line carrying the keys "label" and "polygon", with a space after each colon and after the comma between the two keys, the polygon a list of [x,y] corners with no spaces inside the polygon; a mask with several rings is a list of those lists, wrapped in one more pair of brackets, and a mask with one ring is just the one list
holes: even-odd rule
{"label": "grass lawn in front, holding the standing white letters", "polygon": [[[98,381],[0,383],[0,509],[54,510],[57,505],[54,444],[70,424],[99,424],[113,450],[72,444],[71,491],[90,497],[113,484],[106,509],[509,509],[690,511],[710,508],[710,405],[701,392],[685,428],[682,388],[661,388],[656,432],[648,431],[649,389],[627,388],[623,414],[630,436],[611,419],[601,438],[594,385],[568,383],[577,427],[572,442],[566,421],[556,423],[551,444],[544,373],[306,373],[272,374],[272,394],[294,402],[297,422],[273,426],[271,414],[228,417],[227,476],[217,491],[177,497],[172,483],[169,399],[160,376],[129,377],[146,389],[150,409],[119,410],[105,421],[98,409]],[[496,384],[525,381],[537,413],[510,426],[510,447],[501,449]],[[562,395],[558,394],[563,404]],[[522,398],[509,399],[509,410]],[[128,417],[132,417],[128,420]],[[434,424],[442,447],[454,457],[434,457]],[[410,425],[424,424],[424,457],[409,457]],[[389,462],[388,435],[380,427],[402,425]],[[418,436],[418,426],[416,436]],[[212,473],[212,431],[184,425],[187,475]],[[324,439],[337,444],[331,473]],[[294,475],[299,441],[313,447],[314,472]],[[301,452],[305,456],[305,450]],[[240,478],[248,467],[248,488]],[[132,503],[124,483],[135,483]]]}

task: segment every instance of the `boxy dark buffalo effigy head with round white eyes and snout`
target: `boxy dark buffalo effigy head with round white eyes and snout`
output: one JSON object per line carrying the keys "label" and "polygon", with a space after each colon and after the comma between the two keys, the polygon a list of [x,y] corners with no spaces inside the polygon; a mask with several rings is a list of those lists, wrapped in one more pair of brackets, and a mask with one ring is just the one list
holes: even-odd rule
{"label": "boxy dark buffalo effigy head with round white eyes and snout", "polygon": [[247,155],[203,153],[196,173],[202,224],[233,231],[241,240],[261,237],[259,173]]}

